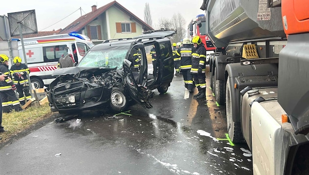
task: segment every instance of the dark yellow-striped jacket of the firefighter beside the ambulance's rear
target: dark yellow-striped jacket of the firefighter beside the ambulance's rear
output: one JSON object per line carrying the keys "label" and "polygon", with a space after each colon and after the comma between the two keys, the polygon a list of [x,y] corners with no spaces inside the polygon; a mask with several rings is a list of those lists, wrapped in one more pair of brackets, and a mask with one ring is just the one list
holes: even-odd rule
{"label": "dark yellow-striped jacket of the firefighter beside the ambulance's rear", "polygon": [[[24,73],[24,75],[20,75],[20,73]],[[19,66],[16,64],[13,64],[11,66],[11,75],[13,77],[13,83],[14,85],[24,85],[25,83],[28,83],[28,75],[30,73],[29,68],[26,64],[21,63]]]}

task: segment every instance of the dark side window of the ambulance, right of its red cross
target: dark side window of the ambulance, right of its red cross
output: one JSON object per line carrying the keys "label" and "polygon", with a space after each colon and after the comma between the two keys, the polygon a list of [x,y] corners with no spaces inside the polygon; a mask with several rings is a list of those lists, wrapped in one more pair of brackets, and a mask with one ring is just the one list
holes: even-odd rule
{"label": "dark side window of the ambulance, right of its red cross", "polygon": [[67,45],[56,45],[43,47],[44,62],[58,61],[62,56],[68,54]]}

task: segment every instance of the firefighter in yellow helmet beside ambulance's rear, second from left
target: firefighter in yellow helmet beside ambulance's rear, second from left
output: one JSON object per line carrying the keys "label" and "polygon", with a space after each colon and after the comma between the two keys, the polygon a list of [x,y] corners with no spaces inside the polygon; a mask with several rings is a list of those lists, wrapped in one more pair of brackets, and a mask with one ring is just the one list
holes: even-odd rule
{"label": "firefighter in yellow helmet beside ambulance's rear, second from left", "polygon": [[[26,101],[31,98],[28,84],[28,75],[30,73],[26,64],[22,63],[22,58],[15,57],[13,59],[14,64],[11,66],[11,75],[13,77],[13,83],[16,86],[18,92],[18,100],[21,105],[25,105]],[[25,93],[25,95],[24,95]]]}

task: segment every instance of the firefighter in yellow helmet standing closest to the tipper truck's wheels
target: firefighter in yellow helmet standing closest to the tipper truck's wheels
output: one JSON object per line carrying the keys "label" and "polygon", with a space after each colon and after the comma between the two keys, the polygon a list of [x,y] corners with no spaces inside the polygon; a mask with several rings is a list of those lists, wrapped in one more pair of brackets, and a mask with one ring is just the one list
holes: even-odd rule
{"label": "firefighter in yellow helmet standing closest to the tipper truck's wheels", "polygon": [[190,72],[193,74],[195,86],[199,90],[199,93],[193,97],[206,100],[206,49],[200,36],[194,36],[192,43],[195,50],[192,52],[192,67]]}

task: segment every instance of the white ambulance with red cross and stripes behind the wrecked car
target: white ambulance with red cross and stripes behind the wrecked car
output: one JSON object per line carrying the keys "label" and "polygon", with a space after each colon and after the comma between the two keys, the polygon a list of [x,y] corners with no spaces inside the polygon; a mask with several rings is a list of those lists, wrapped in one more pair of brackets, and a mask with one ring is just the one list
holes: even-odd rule
{"label": "white ambulance with red cross and stripes behind the wrecked car", "polygon": [[[35,88],[48,86],[56,77],[52,72],[57,69],[59,58],[71,54],[78,62],[94,46],[88,36],[78,33],[56,34],[24,38],[30,81]],[[18,51],[25,63],[22,42],[18,41]]]}

